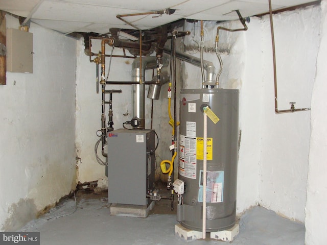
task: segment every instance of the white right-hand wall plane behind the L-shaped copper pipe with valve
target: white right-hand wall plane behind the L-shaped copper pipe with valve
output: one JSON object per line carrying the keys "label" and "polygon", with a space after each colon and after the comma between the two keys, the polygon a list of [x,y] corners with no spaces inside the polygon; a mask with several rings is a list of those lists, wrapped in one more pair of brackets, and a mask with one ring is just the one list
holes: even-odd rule
{"label": "white right-hand wall plane behind the L-shaped copper pipe with valve", "polygon": [[[278,109],[310,108],[319,47],[320,8],[274,15]],[[262,19],[264,71],[260,204],[301,222],[305,218],[311,112],[274,113],[270,22]]]}

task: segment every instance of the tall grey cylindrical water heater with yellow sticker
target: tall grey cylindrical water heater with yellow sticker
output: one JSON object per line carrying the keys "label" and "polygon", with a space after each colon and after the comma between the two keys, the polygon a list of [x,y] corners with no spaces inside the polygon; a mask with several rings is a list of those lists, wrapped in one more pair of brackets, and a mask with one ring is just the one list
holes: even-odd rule
{"label": "tall grey cylindrical water heater with yellow sticker", "polygon": [[[219,118],[207,120],[207,179],[203,190],[203,108]],[[203,191],[206,191],[206,232],[235,225],[239,126],[239,90],[182,89],[177,221],[185,228],[202,230]]]}

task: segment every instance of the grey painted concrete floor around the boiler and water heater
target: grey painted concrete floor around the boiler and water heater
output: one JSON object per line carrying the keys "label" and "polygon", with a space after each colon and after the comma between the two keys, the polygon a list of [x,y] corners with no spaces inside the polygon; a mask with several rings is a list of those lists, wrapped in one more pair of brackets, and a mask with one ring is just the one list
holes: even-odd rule
{"label": "grey painted concrete floor around the boiler and water heater", "polygon": [[[167,214],[171,213],[169,200],[160,202],[147,218],[110,216],[106,194],[77,194],[76,203],[74,197],[62,202],[21,231],[39,231],[41,244],[44,245],[189,243],[175,235],[176,216]],[[167,211],[162,212],[162,208],[167,208]],[[282,218],[265,208],[254,207],[241,217],[240,233],[231,243],[302,245],[304,237],[303,224]],[[191,243],[228,244],[210,238]]]}

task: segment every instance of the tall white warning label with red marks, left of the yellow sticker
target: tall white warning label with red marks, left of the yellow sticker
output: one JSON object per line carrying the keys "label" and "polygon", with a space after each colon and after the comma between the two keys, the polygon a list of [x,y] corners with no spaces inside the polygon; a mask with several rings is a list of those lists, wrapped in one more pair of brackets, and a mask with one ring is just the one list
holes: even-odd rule
{"label": "tall white warning label with red marks, left of the yellow sticker", "polygon": [[196,179],[196,138],[180,135],[179,174],[186,178]]}

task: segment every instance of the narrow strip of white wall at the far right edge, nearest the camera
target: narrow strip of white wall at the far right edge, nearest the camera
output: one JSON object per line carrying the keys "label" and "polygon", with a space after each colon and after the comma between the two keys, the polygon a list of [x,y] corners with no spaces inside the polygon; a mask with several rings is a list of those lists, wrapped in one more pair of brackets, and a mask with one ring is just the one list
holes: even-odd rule
{"label": "narrow strip of white wall at the far right edge, nearest the camera", "polygon": [[[317,25],[319,28],[319,25]],[[327,243],[327,1],[321,1],[321,41],[311,101],[311,138],[306,203],[306,244]]]}

